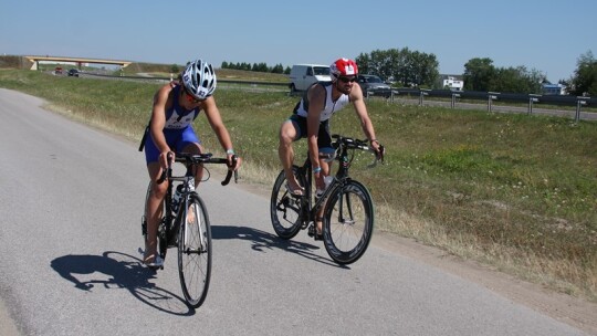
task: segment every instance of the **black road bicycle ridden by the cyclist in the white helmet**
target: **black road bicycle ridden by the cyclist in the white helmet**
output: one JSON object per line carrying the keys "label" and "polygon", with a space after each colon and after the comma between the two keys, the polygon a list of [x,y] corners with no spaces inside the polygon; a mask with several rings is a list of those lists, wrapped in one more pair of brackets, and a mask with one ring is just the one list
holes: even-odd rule
{"label": "black road bicycle ridden by the cyclist in the white helmet", "polygon": [[[175,157],[176,162],[186,166],[184,176],[174,176],[171,164],[159,178],[157,183],[168,180],[168,189],[163,204],[161,222],[158,224],[157,246],[161,260],[166,260],[169,248],[178,250],[178,275],[185,300],[192,307],[199,307],[206,300],[211,277],[211,227],[206,204],[197,191],[195,191],[195,171],[205,164],[226,164],[226,158],[213,158],[211,154],[179,153]],[[237,157],[232,157],[232,167],[235,166]],[[205,169],[208,174],[209,170]],[[228,170],[222,186],[227,186],[234,174]],[[176,192],[172,195],[174,185]],[[142,233],[147,241],[147,198],[151,192],[153,182],[147,187],[145,197],[145,212],[142,218]],[[147,246],[147,244],[146,244]],[[143,251],[140,251],[143,252]],[[151,267],[153,270],[164,266]]]}

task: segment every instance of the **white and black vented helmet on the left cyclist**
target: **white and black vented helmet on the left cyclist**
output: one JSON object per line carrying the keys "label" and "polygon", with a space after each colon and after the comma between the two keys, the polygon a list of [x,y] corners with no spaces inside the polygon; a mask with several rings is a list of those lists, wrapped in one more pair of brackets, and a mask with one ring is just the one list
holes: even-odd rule
{"label": "white and black vented helmet on the left cyclist", "polygon": [[211,64],[197,60],[187,64],[182,72],[182,84],[198,99],[206,99],[216,91],[216,72]]}

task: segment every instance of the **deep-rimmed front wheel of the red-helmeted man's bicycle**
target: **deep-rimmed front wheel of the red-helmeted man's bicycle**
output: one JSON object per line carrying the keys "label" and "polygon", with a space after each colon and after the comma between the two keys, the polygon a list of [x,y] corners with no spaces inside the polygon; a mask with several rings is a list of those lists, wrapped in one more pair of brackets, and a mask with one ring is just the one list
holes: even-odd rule
{"label": "deep-rimmed front wheel of the red-helmeted man's bicycle", "polygon": [[323,218],[327,254],[338,264],[357,261],[369,245],[374,230],[373,199],[365,186],[349,180],[328,198]]}

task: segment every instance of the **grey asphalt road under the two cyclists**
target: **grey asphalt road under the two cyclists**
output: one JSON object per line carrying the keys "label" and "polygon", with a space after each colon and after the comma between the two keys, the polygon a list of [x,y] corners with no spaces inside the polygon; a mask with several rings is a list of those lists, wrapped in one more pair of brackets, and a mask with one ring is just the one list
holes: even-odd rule
{"label": "grey asphalt road under the two cyclists", "polygon": [[[269,199],[213,178],[212,285],[182,301],[174,253],[139,264],[143,154],[0,88],[0,296],[22,335],[583,335],[485,286],[371,245],[341,267]],[[207,136],[207,135],[206,135]],[[1,307],[1,305],[0,305]],[[0,314],[1,315],[1,314]],[[0,329],[1,330],[1,329]]]}

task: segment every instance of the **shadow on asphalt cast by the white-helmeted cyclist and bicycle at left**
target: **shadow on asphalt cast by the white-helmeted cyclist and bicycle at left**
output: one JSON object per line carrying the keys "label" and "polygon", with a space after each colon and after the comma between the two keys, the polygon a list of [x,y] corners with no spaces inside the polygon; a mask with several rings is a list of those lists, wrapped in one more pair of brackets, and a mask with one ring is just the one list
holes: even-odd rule
{"label": "shadow on asphalt cast by the white-helmeted cyclist and bicycle at left", "polygon": [[156,279],[156,272],[143,266],[139,259],[129,254],[116,251],[106,251],[102,255],[69,254],[52,260],[50,265],[60,276],[72,282],[75,288],[92,292],[96,284],[106,290],[124,288],[164,313],[195,315],[195,308],[189,307],[182,297],[149,282]]}

